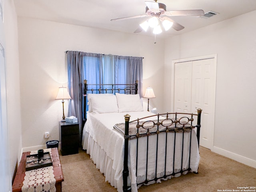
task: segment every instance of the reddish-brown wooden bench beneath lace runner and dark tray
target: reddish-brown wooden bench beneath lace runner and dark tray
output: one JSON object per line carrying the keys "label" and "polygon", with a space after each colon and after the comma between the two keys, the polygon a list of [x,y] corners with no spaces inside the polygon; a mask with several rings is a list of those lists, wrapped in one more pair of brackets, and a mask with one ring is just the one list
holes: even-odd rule
{"label": "reddish-brown wooden bench beneath lace runner and dark tray", "polygon": [[[25,177],[26,172],[26,156],[30,155],[30,152],[24,152],[22,153],[22,157],[20,160],[20,164],[18,166],[14,182],[12,184],[12,192],[22,192],[21,188],[23,186],[23,181]],[[51,150],[51,156],[52,156],[52,166],[53,166],[53,174],[54,178],[56,180],[55,187],[56,192],[61,192],[62,188],[62,181],[64,181],[63,174],[62,174],[62,168],[60,164],[60,158],[58,153],[58,148],[52,148]]]}

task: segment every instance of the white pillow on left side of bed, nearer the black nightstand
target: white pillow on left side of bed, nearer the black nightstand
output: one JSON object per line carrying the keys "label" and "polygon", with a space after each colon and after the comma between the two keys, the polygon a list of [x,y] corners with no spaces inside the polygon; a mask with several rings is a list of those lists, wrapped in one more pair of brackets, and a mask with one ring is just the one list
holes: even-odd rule
{"label": "white pillow on left side of bed, nearer the black nightstand", "polygon": [[87,94],[89,112],[114,113],[118,112],[116,96],[113,94]]}

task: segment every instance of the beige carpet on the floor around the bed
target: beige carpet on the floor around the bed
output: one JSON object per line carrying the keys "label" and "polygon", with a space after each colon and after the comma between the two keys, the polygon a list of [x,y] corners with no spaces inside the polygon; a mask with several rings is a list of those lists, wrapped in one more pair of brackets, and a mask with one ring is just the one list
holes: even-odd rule
{"label": "beige carpet on the floor around the bed", "polygon": [[[162,183],[142,186],[138,192],[217,192],[256,186],[256,169],[200,147],[199,174],[188,173]],[[116,192],[84,150],[61,156],[62,192]]]}

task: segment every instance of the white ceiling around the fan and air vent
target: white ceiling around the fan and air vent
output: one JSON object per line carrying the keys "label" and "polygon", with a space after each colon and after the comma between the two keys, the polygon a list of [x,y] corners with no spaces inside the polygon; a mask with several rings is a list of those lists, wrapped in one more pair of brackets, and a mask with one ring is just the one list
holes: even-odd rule
{"label": "white ceiling around the fan and air vent", "polygon": [[[153,1],[153,0],[148,0]],[[148,18],[110,21],[115,18],[145,14],[144,0],[14,0],[20,17],[36,18],[80,26],[104,28],[133,33]],[[172,20],[185,28],[179,32],[170,29],[158,35],[169,37],[182,34],[256,10],[256,0],[158,0],[166,4],[166,10],[202,9],[219,14],[211,18],[197,16],[173,16]],[[256,18],[252,18],[252,23]],[[152,32],[140,34],[153,36]]]}

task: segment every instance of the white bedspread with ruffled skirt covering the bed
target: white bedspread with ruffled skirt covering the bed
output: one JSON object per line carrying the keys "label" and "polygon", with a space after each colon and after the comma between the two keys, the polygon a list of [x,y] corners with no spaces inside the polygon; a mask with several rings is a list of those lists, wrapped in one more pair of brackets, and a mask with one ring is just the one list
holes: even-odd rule
{"label": "white bedspread with ruffled skirt covering the bed", "polygon": [[[87,121],[83,130],[82,145],[83,149],[87,150],[92,160],[96,164],[96,167],[104,173],[106,181],[110,182],[112,186],[118,189],[118,192],[122,191],[122,170],[124,160],[124,137],[113,128],[117,123],[124,123],[124,113],[104,113],[104,114],[92,114],[87,113]],[[129,112],[130,120],[136,120],[145,116],[154,115],[148,111],[143,112]],[[151,120],[157,119],[152,117]],[[165,134],[159,134],[158,146],[165,146]],[[188,151],[189,151],[189,137],[190,133],[184,133],[184,153],[183,153],[183,168],[188,168]],[[139,156],[138,172],[136,177],[136,139],[129,140],[129,178],[128,182],[131,184],[132,192],[137,191],[136,183],[140,183],[145,180],[145,167],[146,167],[146,138],[139,139]],[[174,134],[168,134],[168,152],[167,158],[171,163],[168,163],[166,168],[169,174],[172,173],[173,165],[173,142]],[[145,143],[145,144],[144,144]],[[155,172],[155,159],[156,159],[156,135],[149,137],[149,161],[148,161],[148,179],[154,178]],[[180,144],[179,144],[180,143]],[[181,144],[182,133],[176,134],[176,150],[175,150],[175,172],[180,170],[181,164]],[[160,168],[164,165],[165,159],[165,147],[158,148],[158,170],[157,174],[160,176],[164,172],[164,168]],[[192,148],[190,157],[191,171],[197,172],[199,165],[199,151],[196,133],[192,130]],[[178,175],[176,175],[178,176]],[[170,178],[170,177],[169,177]],[[160,182],[160,181],[158,181]]]}

